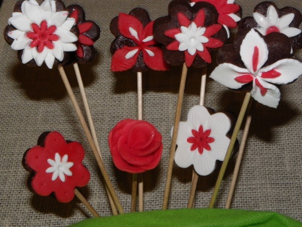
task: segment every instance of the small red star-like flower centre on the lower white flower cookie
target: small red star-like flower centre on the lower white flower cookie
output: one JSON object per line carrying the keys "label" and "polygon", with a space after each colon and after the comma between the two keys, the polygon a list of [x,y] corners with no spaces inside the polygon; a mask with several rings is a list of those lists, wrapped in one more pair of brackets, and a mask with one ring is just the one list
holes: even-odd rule
{"label": "small red star-like flower centre on the lower white flower cookie", "polygon": [[203,132],[203,127],[202,125],[199,126],[198,131],[196,131],[195,129],[192,129],[192,137],[189,137],[187,139],[188,143],[192,143],[191,146],[191,151],[194,151],[198,148],[198,152],[199,154],[202,154],[203,149],[206,149],[207,151],[211,150],[211,146],[209,145],[209,143],[214,142],[214,138],[209,137],[209,135],[211,134],[211,130],[205,130]]}

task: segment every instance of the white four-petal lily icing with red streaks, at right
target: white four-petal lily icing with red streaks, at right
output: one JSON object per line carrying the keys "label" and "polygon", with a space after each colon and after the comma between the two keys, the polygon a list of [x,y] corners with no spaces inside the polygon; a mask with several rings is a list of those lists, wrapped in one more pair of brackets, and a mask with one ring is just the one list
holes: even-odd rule
{"label": "white four-petal lily icing with red streaks, at right", "polygon": [[287,84],[302,74],[302,63],[293,59],[282,59],[262,68],[268,59],[268,48],[254,29],[244,38],[240,56],[246,68],[223,63],[214,69],[210,77],[232,89],[252,82],[251,96],[270,107],[276,108],[280,100],[279,89],[271,83]]}

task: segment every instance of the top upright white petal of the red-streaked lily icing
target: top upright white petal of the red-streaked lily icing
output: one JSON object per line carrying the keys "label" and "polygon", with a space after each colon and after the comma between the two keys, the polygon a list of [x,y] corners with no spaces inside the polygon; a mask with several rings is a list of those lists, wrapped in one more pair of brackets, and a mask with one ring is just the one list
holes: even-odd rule
{"label": "top upright white petal of the red-streaked lily icing", "polygon": [[243,39],[242,44],[240,46],[241,59],[250,72],[254,72],[253,54],[256,46],[258,47],[259,50],[257,70],[256,70],[258,71],[267,60],[268,49],[263,38],[261,38],[260,35],[254,29],[252,29]]}

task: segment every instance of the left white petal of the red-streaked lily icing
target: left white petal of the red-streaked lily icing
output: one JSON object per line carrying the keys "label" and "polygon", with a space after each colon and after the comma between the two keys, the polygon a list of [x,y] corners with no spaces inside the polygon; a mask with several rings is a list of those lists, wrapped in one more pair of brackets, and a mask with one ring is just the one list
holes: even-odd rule
{"label": "left white petal of the red-streaked lily icing", "polygon": [[236,77],[250,73],[247,69],[239,68],[230,63],[223,63],[217,66],[210,75],[210,78],[218,83],[232,89],[239,89],[244,84],[235,80]]}

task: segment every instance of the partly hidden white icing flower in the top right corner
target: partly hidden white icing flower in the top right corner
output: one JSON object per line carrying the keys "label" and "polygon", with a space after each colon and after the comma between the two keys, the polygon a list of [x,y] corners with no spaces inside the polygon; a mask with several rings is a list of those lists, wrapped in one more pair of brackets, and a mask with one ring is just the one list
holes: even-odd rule
{"label": "partly hidden white icing flower in the top right corner", "polygon": [[256,29],[262,35],[267,35],[271,32],[281,32],[288,37],[293,37],[301,33],[300,29],[289,27],[289,24],[294,18],[293,13],[285,14],[279,18],[278,13],[273,6],[268,7],[266,17],[257,12],[253,13],[253,17],[259,25]]}

